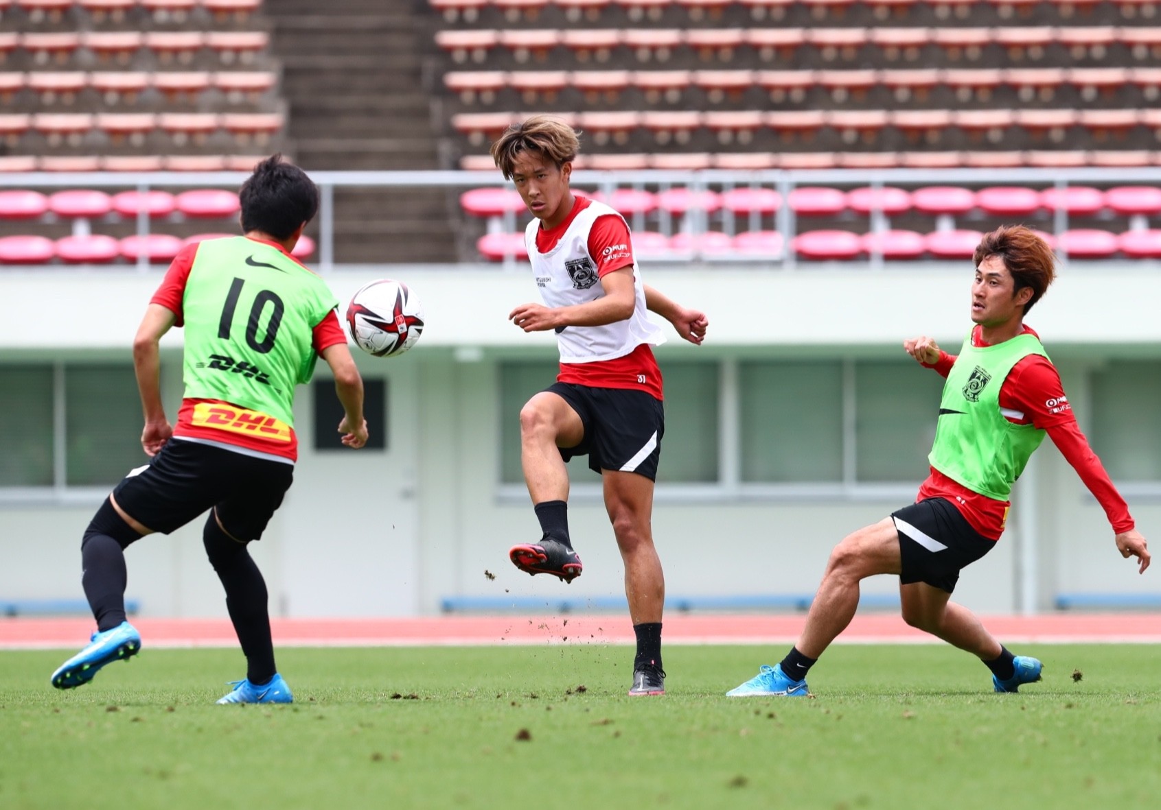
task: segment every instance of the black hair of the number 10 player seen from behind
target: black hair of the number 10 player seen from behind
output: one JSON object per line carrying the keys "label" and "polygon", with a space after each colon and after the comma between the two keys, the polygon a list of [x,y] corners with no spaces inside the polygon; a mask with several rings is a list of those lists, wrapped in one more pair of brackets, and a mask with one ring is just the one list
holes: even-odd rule
{"label": "black hair of the number 10 player seen from behind", "polygon": [[238,193],[244,233],[261,231],[286,239],[318,214],[318,187],[281,154],[254,166]]}

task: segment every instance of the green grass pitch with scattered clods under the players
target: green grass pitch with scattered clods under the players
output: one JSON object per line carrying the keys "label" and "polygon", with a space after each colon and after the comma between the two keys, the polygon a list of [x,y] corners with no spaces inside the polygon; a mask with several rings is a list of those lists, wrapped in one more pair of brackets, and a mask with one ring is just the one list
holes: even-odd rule
{"label": "green grass pitch with scattered clods under the players", "polygon": [[625,695],[628,648],[287,649],[280,707],[212,704],[235,650],[68,693],[66,652],[0,652],[0,808],[1161,807],[1161,650],[1019,651],[1026,694],[950,648],[838,645],[816,699],[731,700],[780,648],[670,646],[656,699]]}

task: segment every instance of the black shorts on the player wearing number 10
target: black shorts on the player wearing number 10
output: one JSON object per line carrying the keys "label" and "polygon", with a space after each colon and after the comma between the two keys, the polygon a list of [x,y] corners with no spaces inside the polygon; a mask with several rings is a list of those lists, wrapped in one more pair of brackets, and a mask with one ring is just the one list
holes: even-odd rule
{"label": "black shorts on the player wearing number 10", "polygon": [[117,505],[146,528],[170,534],[211,506],[236,540],[259,540],[294,480],[294,464],[212,444],[171,439],[113,490]]}

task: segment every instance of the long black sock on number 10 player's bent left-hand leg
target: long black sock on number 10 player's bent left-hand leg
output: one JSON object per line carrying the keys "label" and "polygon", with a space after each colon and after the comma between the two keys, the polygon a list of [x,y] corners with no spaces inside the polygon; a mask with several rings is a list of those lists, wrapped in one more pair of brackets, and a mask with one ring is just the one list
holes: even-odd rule
{"label": "long black sock on number 10 player's bent left-hand leg", "polygon": [[125,548],[140,535],[106,498],[80,542],[81,587],[100,632],[125,621]]}

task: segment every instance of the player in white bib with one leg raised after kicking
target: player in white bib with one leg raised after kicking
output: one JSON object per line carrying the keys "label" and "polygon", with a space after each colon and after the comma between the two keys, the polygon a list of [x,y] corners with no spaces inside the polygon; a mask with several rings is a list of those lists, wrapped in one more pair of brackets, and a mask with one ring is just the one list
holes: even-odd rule
{"label": "player in white bib with one leg raised after kicking", "polygon": [[692,343],[708,321],[695,310],[646,287],[628,224],[608,205],[569,188],[579,140],[551,116],[510,126],[492,158],[511,179],[533,220],[525,243],[543,304],[522,304],[509,319],[525,332],[554,330],[556,383],[520,411],[520,461],[543,536],[514,545],[512,563],[531,574],[570,583],[580,576],[568,525],[565,462],[589,456],[601,475],[605,508],[625,562],[625,593],[636,631],[630,695],[665,692],[661,629],[665,580],[650,519],[654,480],[665,433],[662,378],[650,345],[661,330],[646,309]]}

